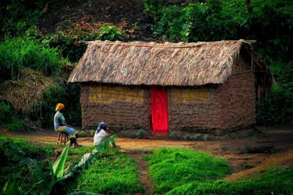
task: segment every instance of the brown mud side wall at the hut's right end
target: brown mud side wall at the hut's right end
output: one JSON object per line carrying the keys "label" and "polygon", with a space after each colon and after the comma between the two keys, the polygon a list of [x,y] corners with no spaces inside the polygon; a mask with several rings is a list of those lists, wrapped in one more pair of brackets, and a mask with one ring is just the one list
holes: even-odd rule
{"label": "brown mud side wall at the hut's right end", "polygon": [[218,125],[222,129],[247,127],[255,124],[255,75],[244,72],[232,75],[216,89]]}

